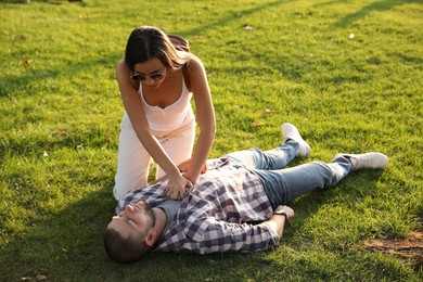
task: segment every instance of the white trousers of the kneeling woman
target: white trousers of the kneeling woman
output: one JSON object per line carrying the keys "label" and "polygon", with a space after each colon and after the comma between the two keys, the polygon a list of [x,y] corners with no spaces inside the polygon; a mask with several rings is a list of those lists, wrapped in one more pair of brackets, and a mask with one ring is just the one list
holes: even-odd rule
{"label": "white trousers of the kneeling woman", "polygon": [[[195,119],[184,123],[184,126],[172,131],[152,130],[152,132],[176,165],[191,157],[195,140]],[[129,118],[125,115],[120,124],[117,171],[113,189],[116,200],[146,184],[151,162],[151,155],[141,144]],[[164,175],[163,169],[157,167],[156,178]]]}

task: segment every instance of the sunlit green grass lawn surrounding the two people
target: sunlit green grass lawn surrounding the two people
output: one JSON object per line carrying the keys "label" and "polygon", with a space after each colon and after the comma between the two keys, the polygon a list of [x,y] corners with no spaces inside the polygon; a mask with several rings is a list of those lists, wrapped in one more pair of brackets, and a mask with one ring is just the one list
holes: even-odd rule
{"label": "sunlit green grass lawn surrounding the two people", "polygon": [[[360,244],[422,229],[421,1],[16,2],[0,1],[0,280],[422,279],[416,261]],[[114,66],[140,25],[187,37],[204,61],[211,157],[273,148],[290,121],[313,150],[293,165],[380,151],[388,166],[291,203],[296,219],[271,252],[111,261],[102,235],[123,114]]]}

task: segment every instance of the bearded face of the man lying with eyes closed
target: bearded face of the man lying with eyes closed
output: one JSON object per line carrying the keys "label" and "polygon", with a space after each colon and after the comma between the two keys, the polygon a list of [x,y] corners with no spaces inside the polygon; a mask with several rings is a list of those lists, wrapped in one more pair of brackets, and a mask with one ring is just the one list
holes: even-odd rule
{"label": "bearded face of the man lying with eyes closed", "polygon": [[144,201],[127,205],[125,210],[114,216],[108,228],[118,231],[124,236],[143,236],[154,226],[153,209]]}

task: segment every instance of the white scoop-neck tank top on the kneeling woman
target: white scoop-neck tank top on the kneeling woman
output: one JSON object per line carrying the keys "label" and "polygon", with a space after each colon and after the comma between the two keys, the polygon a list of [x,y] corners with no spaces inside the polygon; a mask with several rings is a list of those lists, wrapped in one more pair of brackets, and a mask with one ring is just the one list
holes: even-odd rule
{"label": "white scoop-neck tank top on the kneeling woman", "polygon": [[146,119],[153,131],[175,131],[181,127],[192,124],[195,116],[191,106],[192,93],[188,90],[182,76],[182,92],[179,99],[171,105],[162,108],[146,103],[140,86],[139,94],[144,106]]}

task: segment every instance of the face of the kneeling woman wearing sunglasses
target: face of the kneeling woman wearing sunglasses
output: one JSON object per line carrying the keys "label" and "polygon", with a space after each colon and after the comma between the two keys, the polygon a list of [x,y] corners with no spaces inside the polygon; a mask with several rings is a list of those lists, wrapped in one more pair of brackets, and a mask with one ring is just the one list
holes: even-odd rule
{"label": "face of the kneeling woman wearing sunglasses", "polygon": [[166,77],[166,66],[157,57],[133,66],[131,78],[151,89],[158,88]]}

